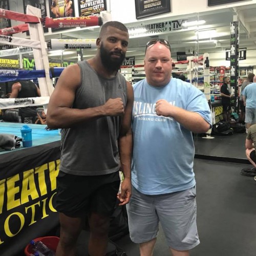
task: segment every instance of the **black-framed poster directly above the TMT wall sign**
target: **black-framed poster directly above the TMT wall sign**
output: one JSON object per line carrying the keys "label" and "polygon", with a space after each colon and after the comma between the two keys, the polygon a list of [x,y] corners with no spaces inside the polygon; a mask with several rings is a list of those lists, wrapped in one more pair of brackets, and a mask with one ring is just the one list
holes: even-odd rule
{"label": "black-framed poster directly above the TMT wall sign", "polygon": [[170,12],[170,0],[135,0],[136,18]]}

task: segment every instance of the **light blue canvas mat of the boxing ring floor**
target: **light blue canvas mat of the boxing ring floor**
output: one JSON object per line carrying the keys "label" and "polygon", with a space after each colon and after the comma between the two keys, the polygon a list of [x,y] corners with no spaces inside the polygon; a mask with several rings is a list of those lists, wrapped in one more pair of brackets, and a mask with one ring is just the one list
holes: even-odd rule
{"label": "light blue canvas mat of the boxing ring floor", "polygon": [[[17,137],[22,137],[20,133],[20,129],[24,123],[9,123],[9,122],[0,122],[0,134],[7,133],[13,134]],[[58,134],[58,130],[45,130],[47,125],[44,124],[28,124],[28,126],[32,129],[32,145],[39,146],[42,144],[47,144],[50,142],[60,140],[60,135]],[[16,148],[16,150],[21,150],[24,147]],[[10,153],[13,151],[1,151],[0,154]]]}

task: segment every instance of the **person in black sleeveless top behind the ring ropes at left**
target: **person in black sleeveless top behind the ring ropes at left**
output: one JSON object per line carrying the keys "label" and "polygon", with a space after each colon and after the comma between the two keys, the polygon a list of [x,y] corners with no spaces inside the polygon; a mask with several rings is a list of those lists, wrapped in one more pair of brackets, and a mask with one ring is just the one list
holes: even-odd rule
{"label": "person in black sleeveless top behind the ring ropes at left", "polygon": [[[30,80],[15,82],[12,85],[10,98],[32,98],[40,97],[39,88]],[[37,118],[36,106],[24,106],[19,109],[19,116],[22,123],[35,123]]]}

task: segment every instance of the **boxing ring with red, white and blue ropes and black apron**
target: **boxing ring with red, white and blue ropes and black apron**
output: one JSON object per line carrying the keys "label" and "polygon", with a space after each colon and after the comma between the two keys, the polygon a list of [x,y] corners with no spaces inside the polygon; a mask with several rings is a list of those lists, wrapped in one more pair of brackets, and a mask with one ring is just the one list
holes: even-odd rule
{"label": "boxing ring with red, white and blue ropes and black apron", "polygon": [[[25,22],[13,28],[0,30],[0,44],[18,46],[3,50],[1,57],[33,52],[36,70],[0,70],[0,81],[38,79],[42,97],[25,99],[0,99],[0,109],[20,108],[28,105],[44,106],[47,111],[49,98],[54,90],[51,78],[59,76],[63,68],[49,68],[47,44],[42,23],[48,27],[100,26],[110,16],[41,19],[41,11],[27,6],[27,14],[0,9],[0,17]],[[17,38],[9,34],[30,32],[30,39]],[[70,40],[72,45],[84,44],[96,47],[95,40]],[[52,41],[52,47],[61,49],[69,40]],[[57,46],[56,46],[57,45]],[[79,47],[78,47],[79,48]],[[81,48],[81,47],[80,47]],[[23,123],[0,122],[0,134],[18,137]],[[56,177],[60,162],[60,135],[58,130],[46,130],[46,125],[29,124],[32,128],[32,147],[15,148],[0,152],[0,254],[1,256],[23,255],[30,240],[55,235],[59,224],[54,208]]]}

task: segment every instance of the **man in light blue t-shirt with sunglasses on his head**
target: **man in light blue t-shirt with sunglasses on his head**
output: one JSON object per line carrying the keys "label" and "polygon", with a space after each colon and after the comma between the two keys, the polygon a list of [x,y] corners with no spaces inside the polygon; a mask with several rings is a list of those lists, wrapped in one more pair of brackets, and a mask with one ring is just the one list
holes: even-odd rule
{"label": "man in light blue t-shirt with sunglasses on his head", "polygon": [[204,94],[171,78],[169,42],[146,45],[146,79],[134,84],[130,236],[140,254],[152,255],[159,221],[173,256],[188,256],[199,244],[192,132],[206,133],[211,113]]}

